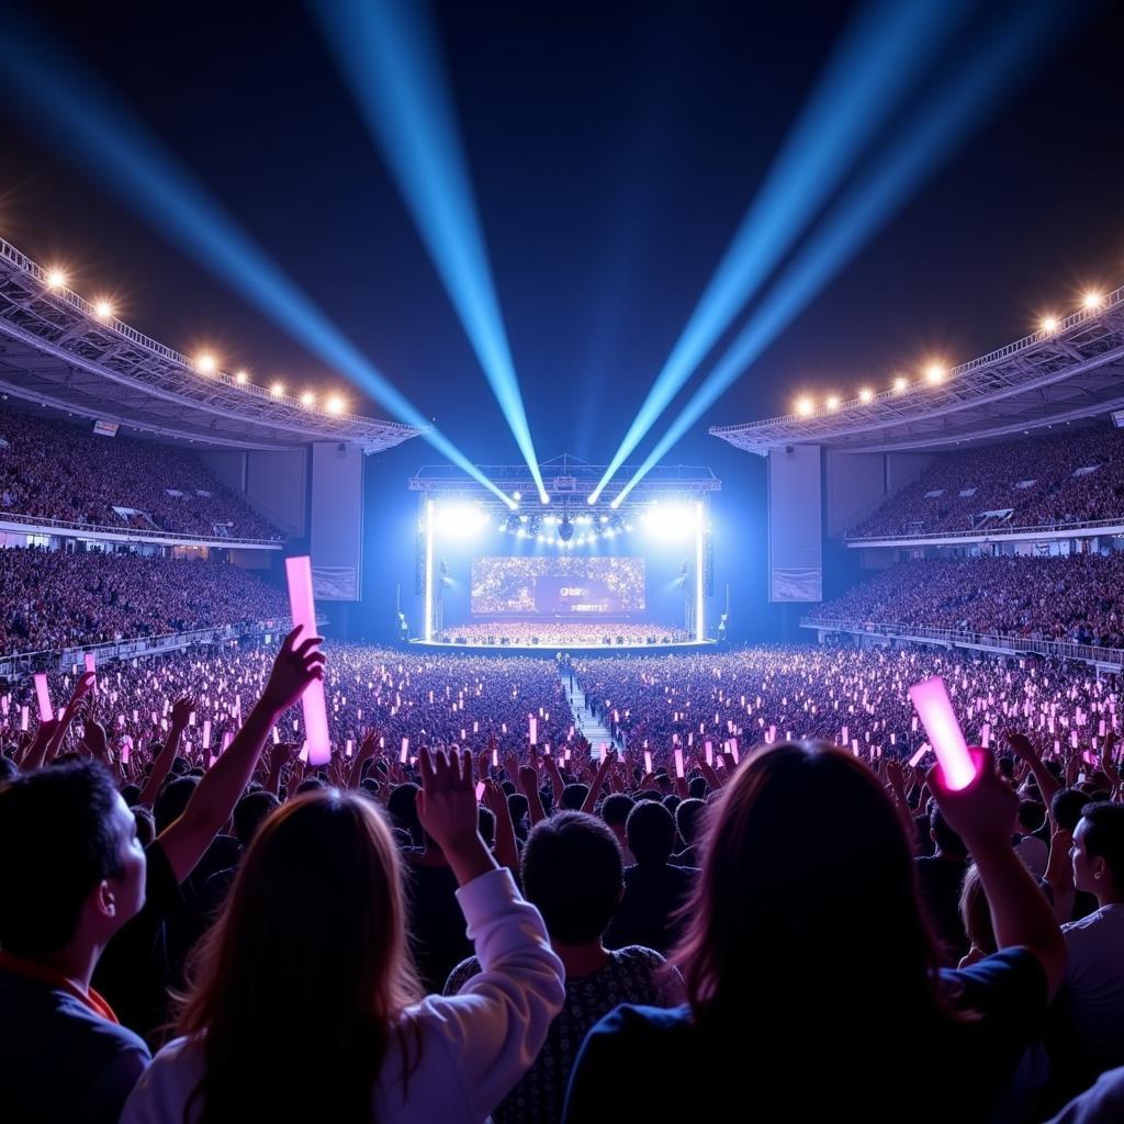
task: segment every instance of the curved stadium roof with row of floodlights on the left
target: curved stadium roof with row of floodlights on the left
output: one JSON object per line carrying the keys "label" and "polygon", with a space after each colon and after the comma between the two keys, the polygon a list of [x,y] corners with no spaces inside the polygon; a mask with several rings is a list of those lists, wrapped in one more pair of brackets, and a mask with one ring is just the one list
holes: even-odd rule
{"label": "curved stadium roof with row of floodlights on the left", "polygon": [[0,391],[165,439],[236,448],[343,441],[374,453],[423,430],[328,413],[187,355],[83,300],[0,238]]}

